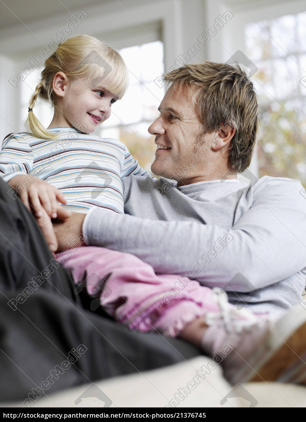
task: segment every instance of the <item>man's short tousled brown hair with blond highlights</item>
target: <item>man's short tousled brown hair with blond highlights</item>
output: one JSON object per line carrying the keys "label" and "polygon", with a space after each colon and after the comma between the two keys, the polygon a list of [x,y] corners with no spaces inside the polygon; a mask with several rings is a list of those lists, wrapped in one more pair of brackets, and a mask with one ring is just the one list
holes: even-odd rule
{"label": "man's short tousled brown hair with blond highlights", "polygon": [[253,84],[239,65],[203,62],[184,65],[165,73],[174,89],[187,87],[195,92],[204,133],[233,125],[229,160],[241,173],[251,162],[259,126],[259,106]]}

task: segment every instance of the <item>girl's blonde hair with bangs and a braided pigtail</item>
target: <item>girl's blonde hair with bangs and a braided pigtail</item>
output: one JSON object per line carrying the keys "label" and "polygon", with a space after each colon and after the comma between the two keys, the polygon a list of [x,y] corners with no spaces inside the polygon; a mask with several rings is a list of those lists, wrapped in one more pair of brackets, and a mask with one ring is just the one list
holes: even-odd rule
{"label": "girl's blonde hair with bangs and a braided pigtail", "polygon": [[[45,61],[41,81],[30,99],[30,109],[34,108],[37,97],[49,101],[54,108],[57,106],[57,95],[52,87],[57,72],[65,73],[72,80],[103,80],[103,88],[119,99],[123,97],[128,85],[127,68],[118,51],[90,35],[77,35],[61,43]],[[36,138],[56,139],[59,136],[48,132],[31,110],[26,125]]]}

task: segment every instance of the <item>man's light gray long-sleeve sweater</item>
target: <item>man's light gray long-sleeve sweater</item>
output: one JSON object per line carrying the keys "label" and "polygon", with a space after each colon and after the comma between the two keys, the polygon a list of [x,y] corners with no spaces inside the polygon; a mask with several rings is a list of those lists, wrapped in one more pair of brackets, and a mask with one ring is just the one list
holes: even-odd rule
{"label": "man's light gray long-sleeve sweater", "polygon": [[83,226],[90,245],[222,287],[231,303],[258,313],[301,301],[306,197],[299,181],[264,176],[248,187],[217,180],[179,188],[164,178],[122,181],[126,214],[90,211]]}

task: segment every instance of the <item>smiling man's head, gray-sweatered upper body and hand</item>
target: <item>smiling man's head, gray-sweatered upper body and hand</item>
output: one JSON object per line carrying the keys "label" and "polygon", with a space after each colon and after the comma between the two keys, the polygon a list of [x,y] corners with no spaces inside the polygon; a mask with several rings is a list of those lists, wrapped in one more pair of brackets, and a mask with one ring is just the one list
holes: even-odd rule
{"label": "smiling man's head, gray-sweatered upper body and hand", "polygon": [[84,233],[87,244],[134,254],[157,273],[222,287],[238,306],[280,314],[305,287],[301,183],[238,181],[258,127],[257,98],[242,70],[205,62],[166,80],[172,85],[149,127],[157,144],[152,172],[162,177],[123,179],[125,215],[94,209],[55,225],[60,249]]}

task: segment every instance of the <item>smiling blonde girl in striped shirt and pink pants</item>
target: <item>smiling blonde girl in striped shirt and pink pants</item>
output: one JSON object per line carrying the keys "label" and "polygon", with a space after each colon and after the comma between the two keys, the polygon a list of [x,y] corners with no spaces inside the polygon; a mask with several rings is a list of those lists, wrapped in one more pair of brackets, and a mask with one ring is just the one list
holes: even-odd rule
{"label": "smiling blonde girl in striped shirt and pink pants", "polygon": [[[68,39],[46,60],[30,99],[30,133],[8,135],[0,154],[3,179],[36,215],[41,215],[43,207],[56,218],[57,200],[82,213],[93,206],[124,212],[121,178],[149,174],[120,141],[90,134],[108,119],[112,104],[126,89],[122,57],[88,35]],[[47,129],[33,111],[38,96],[54,107]],[[92,246],[68,252],[58,259],[65,261],[76,284],[85,282],[92,298],[100,295],[99,303],[117,321],[200,346],[215,363],[222,362],[230,382],[255,375],[246,361],[253,346],[270,335],[270,328],[252,313],[237,312],[226,294],[186,277],[157,275],[130,254]],[[241,327],[255,326],[242,341]],[[261,375],[265,377],[264,372]]]}

